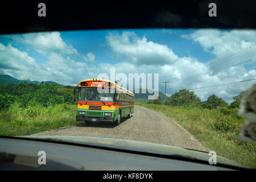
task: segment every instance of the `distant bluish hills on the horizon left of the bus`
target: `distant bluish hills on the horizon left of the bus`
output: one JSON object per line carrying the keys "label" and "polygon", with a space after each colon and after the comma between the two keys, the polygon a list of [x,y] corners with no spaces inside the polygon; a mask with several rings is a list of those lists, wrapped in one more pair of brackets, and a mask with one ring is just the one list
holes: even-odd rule
{"label": "distant bluish hills on the horizon left of the bus", "polygon": [[[11,77],[10,75],[0,75],[0,84],[22,84],[25,81],[31,84],[40,84],[40,81],[30,81],[30,80],[18,80],[14,77]],[[53,81],[44,81],[48,84],[57,84],[56,82]],[[64,86],[64,85],[60,85]]]}

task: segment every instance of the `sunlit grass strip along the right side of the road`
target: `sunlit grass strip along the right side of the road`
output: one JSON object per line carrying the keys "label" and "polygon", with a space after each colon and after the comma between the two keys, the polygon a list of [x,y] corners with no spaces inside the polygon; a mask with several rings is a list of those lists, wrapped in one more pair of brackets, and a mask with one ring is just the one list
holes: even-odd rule
{"label": "sunlit grass strip along the right side of the road", "polygon": [[248,168],[256,168],[256,144],[238,140],[244,118],[226,115],[218,109],[193,106],[166,106],[135,103],[159,111],[193,134],[205,147],[217,155]]}

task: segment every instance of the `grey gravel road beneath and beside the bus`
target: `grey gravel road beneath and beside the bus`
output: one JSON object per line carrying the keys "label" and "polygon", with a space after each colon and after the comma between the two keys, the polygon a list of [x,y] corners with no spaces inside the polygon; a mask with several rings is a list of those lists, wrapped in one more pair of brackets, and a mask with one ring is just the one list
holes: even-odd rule
{"label": "grey gravel road beneath and beside the bus", "polygon": [[161,113],[141,106],[135,106],[133,116],[130,119],[123,118],[118,126],[112,123],[93,123],[92,125],[82,123],[35,135],[117,138],[208,151],[177,123]]}

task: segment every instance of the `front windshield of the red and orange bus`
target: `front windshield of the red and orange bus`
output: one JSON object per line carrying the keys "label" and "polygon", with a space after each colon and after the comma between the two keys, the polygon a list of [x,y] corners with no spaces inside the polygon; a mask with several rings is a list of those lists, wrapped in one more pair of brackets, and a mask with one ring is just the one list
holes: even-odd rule
{"label": "front windshield of the red and orange bus", "polygon": [[97,88],[79,88],[79,100],[84,101],[114,101],[114,92],[107,90],[106,93],[99,93]]}

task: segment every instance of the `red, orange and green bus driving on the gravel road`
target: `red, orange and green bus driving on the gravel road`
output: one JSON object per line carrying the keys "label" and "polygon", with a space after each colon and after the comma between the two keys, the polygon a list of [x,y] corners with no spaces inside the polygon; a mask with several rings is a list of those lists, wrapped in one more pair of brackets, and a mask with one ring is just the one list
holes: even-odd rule
{"label": "red, orange and green bus driving on the gravel road", "polygon": [[[74,89],[77,94],[77,121],[114,122],[119,125],[121,118],[134,113],[134,94],[122,88],[117,82],[104,79],[82,80]],[[98,89],[105,91],[98,92]]]}

